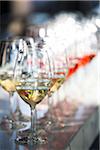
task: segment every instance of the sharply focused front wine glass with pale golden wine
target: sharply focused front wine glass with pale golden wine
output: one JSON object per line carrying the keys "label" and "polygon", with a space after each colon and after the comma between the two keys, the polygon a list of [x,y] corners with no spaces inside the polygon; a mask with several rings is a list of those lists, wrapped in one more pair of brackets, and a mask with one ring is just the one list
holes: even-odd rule
{"label": "sharply focused front wine glass with pale golden wine", "polygon": [[17,93],[31,108],[31,128],[28,135],[25,131],[24,136],[23,131],[22,134],[18,133],[15,140],[18,143],[36,144],[44,142],[37,135],[35,108],[47,95],[50,86],[49,73],[50,66],[47,53],[37,45],[35,49],[24,48],[23,53],[19,53],[14,78]]}

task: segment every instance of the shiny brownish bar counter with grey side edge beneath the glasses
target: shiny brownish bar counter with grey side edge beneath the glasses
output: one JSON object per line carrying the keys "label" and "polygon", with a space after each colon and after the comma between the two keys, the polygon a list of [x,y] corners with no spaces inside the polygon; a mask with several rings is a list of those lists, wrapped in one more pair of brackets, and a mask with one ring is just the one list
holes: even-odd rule
{"label": "shiny brownish bar counter with grey side edge beneath the glasses", "polygon": [[0,129],[0,150],[88,150],[99,134],[99,107],[80,105],[71,120],[66,128],[48,132],[42,145],[16,144],[15,130]]}

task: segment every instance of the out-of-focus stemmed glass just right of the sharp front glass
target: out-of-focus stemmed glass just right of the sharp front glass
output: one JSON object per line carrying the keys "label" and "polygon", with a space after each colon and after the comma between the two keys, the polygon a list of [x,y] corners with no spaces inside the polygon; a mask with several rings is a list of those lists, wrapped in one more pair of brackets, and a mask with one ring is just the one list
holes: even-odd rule
{"label": "out-of-focus stemmed glass just right of the sharp front glass", "polygon": [[[58,54],[54,53],[52,49],[46,45],[45,39],[43,39],[41,46],[43,47],[43,50],[47,52],[48,58],[49,58],[49,63],[50,63],[50,75],[49,79],[51,80],[51,84],[49,86],[49,91],[48,91],[48,112],[46,114],[46,119],[45,121],[46,124],[46,130],[48,129],[54,129],[54,128],[61,128],[62,124],[60,122],[60,117],[56,115],[55,108],[54,108],[54,103],[60,103],[59,102],[59,92],[58,89],[62,86],[64,81],[66,80],[67,72],[68,72],[68,67],[67,67],[67,62],[66,62],[66,57],[65,53]],[[56,93],[56,99],[53,98],[54,93]],[[59,105],[59,110],[62,111],[62,107]],[[64,126],[64,125],[63,125]]]}

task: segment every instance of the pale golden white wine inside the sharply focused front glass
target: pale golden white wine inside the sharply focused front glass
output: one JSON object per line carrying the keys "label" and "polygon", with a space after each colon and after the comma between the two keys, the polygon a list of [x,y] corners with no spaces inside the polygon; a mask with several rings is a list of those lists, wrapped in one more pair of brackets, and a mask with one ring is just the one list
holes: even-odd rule
{"label": "pale golden white wine inside the sharply focused front glass", "polygon": [[49,80],[38,82],[20,82],[16,90],[20,97],[32,107],[40,103],[48,92]]}

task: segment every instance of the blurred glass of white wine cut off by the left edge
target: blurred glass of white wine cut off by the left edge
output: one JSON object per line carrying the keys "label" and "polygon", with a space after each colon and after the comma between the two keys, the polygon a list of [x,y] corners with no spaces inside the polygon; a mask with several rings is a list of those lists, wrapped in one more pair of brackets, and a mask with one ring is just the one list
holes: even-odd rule
{"label": "blurred glass of white wine cut off by the left edge", "polygon": [[[2,41],[1,41],[2,42]],[[14,38],[4,41],[2,63],[0,67],[0,86],[9,93],[10,115],[6,115],[12,129],[19,129],[25,127],[22,114],[19,106],[16,106],[16,111],[13,113],[11,108],[11,98],[16,92],[16,82],[14,81],[14,66],[17,61],[19,52],[22,50],[23,40]],[[20,117],[19,117],[20,116]]]}

